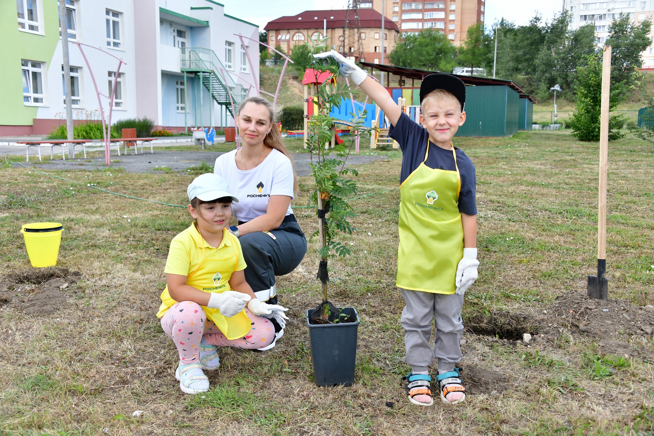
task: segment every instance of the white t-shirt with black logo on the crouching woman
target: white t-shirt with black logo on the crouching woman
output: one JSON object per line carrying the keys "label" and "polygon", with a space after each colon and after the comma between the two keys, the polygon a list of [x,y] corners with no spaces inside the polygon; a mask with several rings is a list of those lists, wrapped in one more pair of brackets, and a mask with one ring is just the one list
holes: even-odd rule
{"label": "white t-shirt with black logo on the crouching woman", "polygon": [[[237,220],[250,221],[266,214],[271,195],[293,198],[293,165],[282,152],[273,148],[262,163],[247,171],[236,167],[235,156],[236,150],[218,156],[213,172],[227,180],[230,193],[239,199],[232,203]],[[286,215],[292,213],[289,205]]]}

